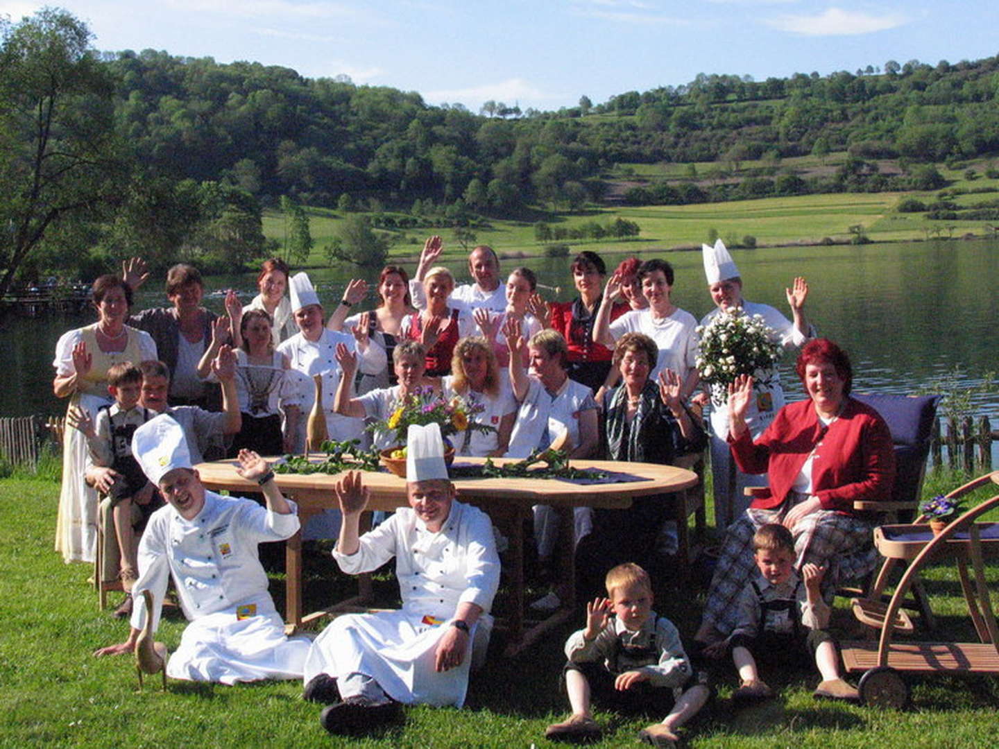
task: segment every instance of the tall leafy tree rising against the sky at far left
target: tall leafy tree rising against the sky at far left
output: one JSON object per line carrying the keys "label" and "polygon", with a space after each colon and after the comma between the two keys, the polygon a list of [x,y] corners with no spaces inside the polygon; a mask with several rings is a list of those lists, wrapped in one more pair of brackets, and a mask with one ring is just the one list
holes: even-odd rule
{"label": "tall leafy tree rising against the sky at far left", "polygon": [[0,298],[47,231],[96,218],[123,171],[113,80],[91,38],[54,8],[0,18]]}

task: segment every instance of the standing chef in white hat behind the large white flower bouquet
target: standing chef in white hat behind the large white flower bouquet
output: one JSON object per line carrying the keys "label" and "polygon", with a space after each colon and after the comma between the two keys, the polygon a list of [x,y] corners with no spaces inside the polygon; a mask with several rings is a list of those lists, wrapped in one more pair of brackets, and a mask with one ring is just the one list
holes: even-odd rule
{"label": "standing chef in white hat behind the large white flower bouquet", "polygon": [[[704,261],[704,275],[707,277],[707,289],[711,294],[715,309],[700,321],[702,326],[708,325],[720,311],[740,308],[750,317],[759,315],[763,322],[786,351],[800,349],[810,339],[815,338],[815,329],[805,318],[805,299],[808,297],[808,285],[802,278],[794,280],[794,286],[787,292],[787,304],[791,308],[794,321],[791,322],[769,305],[746,302],[742,298],[742,279],[735,261],[721,240],[714,247],[701,245]],[[753,439],[763,433],[770,425],[774,415],[784,405],[784,388],[780,386],[779,374],[774,370],[770,373],[768,384],[760,384],[755,389],[756,397],[749,403],[746,413],[746,424]],[[711,475],[714,478],[714,514],[718,528],[726,527],[736,517],[739,517],[749,504],[744,495],[746,486],[765,486],[766,474],[748,474],[735,468],[734,486],[729,486],[729,472],[732,466],[731,453],[725,441],[728,435],[728,408],[725,402],[727,391],[721,385],[714,385],[711,391]],[[720,403],[720,405],[719,405]]]}

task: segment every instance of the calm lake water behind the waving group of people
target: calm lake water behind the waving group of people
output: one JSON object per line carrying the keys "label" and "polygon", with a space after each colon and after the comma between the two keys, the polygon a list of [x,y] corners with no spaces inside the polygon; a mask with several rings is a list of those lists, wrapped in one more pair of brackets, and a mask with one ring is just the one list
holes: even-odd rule
{"label": "calm lake water behind the waving group of people", "polygon": [[[999,296],[990,291],[999,278],[999,252],[985,242],[934,242],[866,247],[785,248],[735,251],[746,298],[773,305],[787,314],[784,287],[794,276],[808,280],[806,311],[820,334],[844,346],[854,364],[854,388],[910,392],[935,375],[961,365],[970,378],[995,370],[999,337]],[[642,257],[656,257],[646,252]],[[673,300],[698,320],[711,309],[699,253],[664,253],[676,270]],[[613,267],[619,258],[607,256]],[[548,299],[572,294],[568,261],[526,261],[540,283],[560,287]],[[516,261],[506,261],[512,269]],[[459,277],[466,275],[466,269]],[[340,299],[350,271],[310,272],[324,301]],[[371,279],[369,279],[371,280]],[[230,286],[249,302],[255,275],[211,277],[209,290]],[[152,285],[150,285],[152,286]],[[139,295],[137,307],[166,305],[158,290]],[[222,310],[220,296],[206,305]],[[330,307],[333,305],[331,304]],[[66,330],[86,325],[93,316],[8,317],[0,331],[0,352],[8,364],[0,388],[0,414],[56,413],[63,404],[52,395],[55,344]],[[785,371],[788,363],[785,363]],[[792,395],[800,386],[784,376]],[[982,397],[981,413],[999,416],[999,397]]]}

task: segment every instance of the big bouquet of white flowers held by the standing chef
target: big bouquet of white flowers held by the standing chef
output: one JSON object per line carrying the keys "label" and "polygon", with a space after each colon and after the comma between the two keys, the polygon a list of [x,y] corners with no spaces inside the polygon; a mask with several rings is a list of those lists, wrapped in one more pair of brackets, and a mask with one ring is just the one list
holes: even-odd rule
{"label": "big bouquet of white flowers held by the standing chef", "polygon": [[738,375],[752,375],[754,387],[768,385],[775,376],[781,349],[761,316],[749,316],[739,309],[720,310],[710,323],[697,328],[697,334],[697,372],[711,385],[715,405],[727,400],[728,385]]}

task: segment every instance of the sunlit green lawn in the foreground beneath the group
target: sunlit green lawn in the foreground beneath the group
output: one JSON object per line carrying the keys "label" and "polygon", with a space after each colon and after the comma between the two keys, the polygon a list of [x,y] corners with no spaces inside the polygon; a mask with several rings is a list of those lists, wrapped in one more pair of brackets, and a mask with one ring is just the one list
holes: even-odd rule
{"label": "sunlit green lawn in the foreground beneath the group", "polygon": [[[960,481],[956,474],[931,474],[924,493]],[[301,683],[224,687],[175,681],[164,694],[154,679],[138,694],[129,658],[90,655],[123,639],[125,625],[97,610],[86,583],[89,567],[65,565],[53,551],[58,493],[51,478],[16,473],[0,480],[0,746],[554,746],[542,734],[566,709],[554,682],[568,628],[516,661],[492,657],[473,677],[466,709],[408,708],[405,726],[364,741],[331,740],[319,726],[317,708],[301,700]],[[990,567],[992,579],[996,571]],[[307,557],[307,586],[314,605],[349,589],[328,557],[319,556]],[[389,577],[378,580],[378,587],[394,596]],[[931,570],[928,587],[941,632],[973,638],[951,569]],[[279,607],[282,588],[282,577],[274,575]],[[667,587],[657,608],[689,635],[701,595]],[[838,602],[837,618],[846,614]],[[158,639],[173,649],[183,627],[178,615],[168,616]],[[735,679],[726,669],[718,699],[688,733],[690,745],[912,749],[993,746],[999,739],[999,682],[991,676],[915,677],[907,711],[816,702],[810,693],[818,677],[808,669],[770,678],[780,690],[777,699],[733,714],[727,698]],[[635,732],[647,722],[606,713],[597,719],[608,729],[602,747],[637,747]]]}

